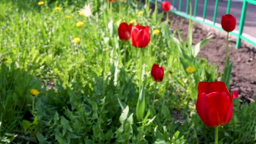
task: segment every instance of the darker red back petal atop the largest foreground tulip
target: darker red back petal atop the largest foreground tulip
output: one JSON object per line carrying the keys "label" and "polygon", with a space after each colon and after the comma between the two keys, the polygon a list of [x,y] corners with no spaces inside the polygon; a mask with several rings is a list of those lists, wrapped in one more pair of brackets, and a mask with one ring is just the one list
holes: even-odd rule
{"label": "darker red back petal atop the largest foreground tulip", "polygon": [[198,85],[198,93],[212,93],[212,92],[225,92],[228,96],[230,96],[230,93],[227,89],[227,86],[224,82],[217,81],[217,82],[200,82]]}

